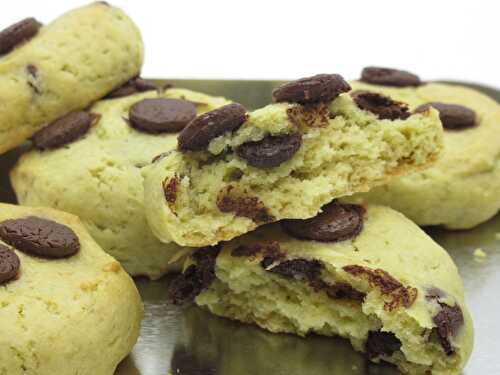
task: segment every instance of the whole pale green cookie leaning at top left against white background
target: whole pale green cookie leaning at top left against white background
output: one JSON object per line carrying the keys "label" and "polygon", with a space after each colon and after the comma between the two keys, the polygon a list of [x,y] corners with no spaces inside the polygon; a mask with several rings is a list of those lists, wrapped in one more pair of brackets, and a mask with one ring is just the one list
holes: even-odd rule
{"label": "whole pale green cookie leaning at top left against white background", "polygon": [[27,19],[2,31],[0,153],[136,76],[142,61],[139,30],[104,2],[47,26]]}

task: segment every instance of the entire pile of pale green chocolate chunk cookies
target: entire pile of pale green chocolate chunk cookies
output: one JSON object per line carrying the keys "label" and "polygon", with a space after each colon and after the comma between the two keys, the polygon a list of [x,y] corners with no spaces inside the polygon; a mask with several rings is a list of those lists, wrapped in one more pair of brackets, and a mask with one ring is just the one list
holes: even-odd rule
{"label": "entire pile of pale green chocolate chunk cookies", "polygon": [[169,272],[175,304],[461,372],[462,281],[418,225],[500,209],[492,99],[371,67],[250,111],[141,79],[139,31],[103,2],[23,20],[0,53],[0,152],[30,141],[0,212],[0,374],[113,374],[143,314],[130,276]]}

